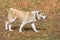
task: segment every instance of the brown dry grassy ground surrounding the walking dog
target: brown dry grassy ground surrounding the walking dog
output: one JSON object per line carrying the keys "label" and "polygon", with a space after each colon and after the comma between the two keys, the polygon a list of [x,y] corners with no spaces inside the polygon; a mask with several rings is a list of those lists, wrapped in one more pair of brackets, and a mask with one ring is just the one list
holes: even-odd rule
{"label": "brown dry grassy ground surrounding the walking dog", "polygon": [[[36,22],[38,33],[27,24],[19,33],[19,21],[13,23],[13,32],[6,31],[2,19],[7,19],[7,10],[40,10],[47,15],[46,21]],[[60,40],[60,0],[0,0],[0,40]]]}

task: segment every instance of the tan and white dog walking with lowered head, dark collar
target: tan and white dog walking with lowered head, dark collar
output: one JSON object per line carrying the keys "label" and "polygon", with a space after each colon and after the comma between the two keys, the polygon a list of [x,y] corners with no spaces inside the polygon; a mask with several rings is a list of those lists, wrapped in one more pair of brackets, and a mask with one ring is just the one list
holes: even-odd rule
{"label": "tan and white dog walking with lowered head, dark collar", "polygon": [[12,22],[14,22],[18,18],[22,23],[19,32],[22,32],[22,28],[27,23],[31,23],[33,30],[35,32],[38,32],[34,22],[40,19],[46,19],[46,15],[40,11],[22,11],[15,8],[10,8],[7,18],[8,20],[5,22],[6,30],[13,31],[11,29]]}

